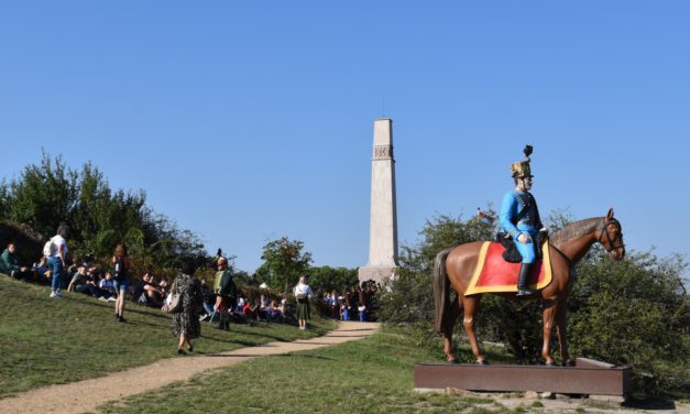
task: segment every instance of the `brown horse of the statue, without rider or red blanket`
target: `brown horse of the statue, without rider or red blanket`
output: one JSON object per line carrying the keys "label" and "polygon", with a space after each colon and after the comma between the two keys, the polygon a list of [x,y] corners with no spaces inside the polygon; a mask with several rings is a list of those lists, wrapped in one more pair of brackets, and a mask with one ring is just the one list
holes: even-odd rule
{"label": "brown horse of the statue, without rider or red blanket", "polygon": [[[572,366],[568,355],[568,338],[566,330],[566,301],[572,286],[572,266],[590,250],[592,244],[600,242],[614,260],[625,255],[623,230],[621,224],[613,217],[613,209],[606,217],[594,217],[576,221],[554,233],[549,239],[551,282],[539,291],[538,298],[544,302],[544,345],[541,356],[549,366],[555,364],[551,356],[551,331],[556,322],[560,356],[565,366]],[[480,364],[486,359],[477,342],[474,334],[474,314],[479,307],[482,294],[464,295],[482,247],[481,241],[460,244],[443,250],[436,257],[434,265],[434,302],[436,306],[436,330],[443,335],[443,352],[449,362],[456,362],[452,352],[452,330],[460,314],[463,315],[462,325],[468,334],[472,352]],[[458,293],[451,302],[449,285]],[[507,298],[516,298],[513,293],[500,294]]]}

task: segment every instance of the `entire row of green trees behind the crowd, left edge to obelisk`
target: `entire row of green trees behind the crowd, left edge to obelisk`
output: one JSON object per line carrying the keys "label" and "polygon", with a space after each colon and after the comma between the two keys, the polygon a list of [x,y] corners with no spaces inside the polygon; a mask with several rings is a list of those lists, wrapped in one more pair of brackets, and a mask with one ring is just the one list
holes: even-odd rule
{"label": "entire row of green trees behind the crowd, left edge to obelisk", "polygon": [[[0,243],[18,241],[26,264],[36,261],[43,242],[59,224],[69,227],[68,246],[74,260],[91,258],[107,266],[118,243],[124,242],[135,271],[174,273],[182,258],[202,266],[200,276],[212,283],[210,257],[199,237],[182,229],[147,203],[144,190],[113,189],[103,173],[90,162],[75,170],[62,156],[43,154],[37,164],[24,167],[18,177],[0,182]],[[0,249],[1,250],[1,249]],[[229,258],[232,263],[234,257]],[[299,276],[309,275],[315,288],[330,291],[358,282],[357,269],[311,266],[304,242],[283,237],[262,251],[263,263],[253,275],[232,269],[238,282],[265,282],[276,291],[289,291]]]}

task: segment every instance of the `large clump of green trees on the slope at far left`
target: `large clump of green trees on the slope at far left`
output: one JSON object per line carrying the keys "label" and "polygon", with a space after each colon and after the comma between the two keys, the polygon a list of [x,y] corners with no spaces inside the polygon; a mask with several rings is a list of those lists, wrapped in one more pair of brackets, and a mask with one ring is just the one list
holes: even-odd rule
{"label": "large clump of green trees on the slope at far left", "polygon": [[[112,189],[90,162],[73,170],[62,156],[45,153],[19,177],[0,183],[0,221],[28,227],[43,240],[64,222],[69,227],[70,255],[77,259],[102,261],[124,242],[141,269],[173,268],[180,258],[207,260],[198,236],[155,213],[143,190]],[[41,253],[35,246],[25,250],[23,258]]]}

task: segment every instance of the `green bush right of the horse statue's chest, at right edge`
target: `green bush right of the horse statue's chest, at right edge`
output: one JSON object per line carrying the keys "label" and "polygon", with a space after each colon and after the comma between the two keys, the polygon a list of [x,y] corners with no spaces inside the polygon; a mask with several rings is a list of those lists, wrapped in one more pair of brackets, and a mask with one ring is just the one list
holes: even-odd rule
{"label": "green bush right of the horse statue's chest, at right edge", "polygon": [[584,260],[569,299],[573,353],[631,367],[636,392],[682,394],[690,377],[686,269],[680,257],[648,252]]}

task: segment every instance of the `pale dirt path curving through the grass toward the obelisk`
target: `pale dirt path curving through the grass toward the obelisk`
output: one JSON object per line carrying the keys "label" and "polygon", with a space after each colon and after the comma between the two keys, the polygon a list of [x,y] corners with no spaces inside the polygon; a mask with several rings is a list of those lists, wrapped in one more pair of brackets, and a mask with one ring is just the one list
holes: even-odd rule
{"label": "pale dirt path curving through the grass toward the obelisk", "polygon": [[51,385],[0,400],[0,413],[83,413],[107,401],[158,389],[212,368],[232,366],[256,357],[329,347],[368,337],[379,328],[379,324],[341,322],[337,329],[311,339],[270,342],[221,353],[163,359],[106,377]]}

